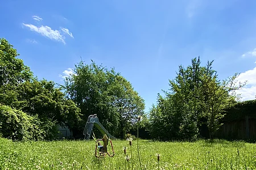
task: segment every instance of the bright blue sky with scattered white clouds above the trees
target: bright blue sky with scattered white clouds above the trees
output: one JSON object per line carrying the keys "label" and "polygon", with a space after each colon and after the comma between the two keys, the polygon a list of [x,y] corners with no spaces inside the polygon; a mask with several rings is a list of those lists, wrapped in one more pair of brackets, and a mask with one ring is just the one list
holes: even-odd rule
{"label": "bright blue sky with scattered white clouds above the trees", "polygon": [[3,1],[0,37],[38,78],[63,83],[80,57],[115,67],[146,103],[168,89],[178,65],[214,59],[221,79],[248,80],[256,95],[256,1]]}

